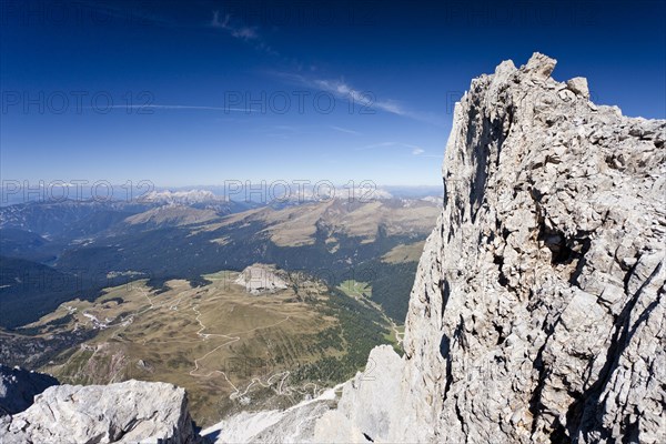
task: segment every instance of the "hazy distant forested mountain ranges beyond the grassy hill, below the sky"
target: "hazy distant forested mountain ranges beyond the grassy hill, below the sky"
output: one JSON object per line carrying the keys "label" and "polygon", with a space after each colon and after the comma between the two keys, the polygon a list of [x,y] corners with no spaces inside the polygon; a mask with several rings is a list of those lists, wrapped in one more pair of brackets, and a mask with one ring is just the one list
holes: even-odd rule
{"label": "hazy distant forested mountain ranges beyond the grassy hill, below the sky", "polygon": [[373,282],[386,313],[402,320],[415,256],[383,258],[398,246],[418,249],[440,209],[436,198],[275,205],[206,191],[149,198],[0,208],[0,325],[33,322],[67,299],[94,299],[110,275],[131,273],[160,287],[170,279],[202,283],[202,274],[255,262],[305,271],[331,285],[361,275]]}

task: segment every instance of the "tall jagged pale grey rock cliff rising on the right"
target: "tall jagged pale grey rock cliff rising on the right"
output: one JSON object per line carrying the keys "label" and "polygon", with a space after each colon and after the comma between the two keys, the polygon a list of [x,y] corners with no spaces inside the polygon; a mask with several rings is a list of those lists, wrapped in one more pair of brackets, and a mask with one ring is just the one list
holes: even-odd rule
{"label": "tall jagged pale grey rock cliff rising on the right", "polygon": [[472,82],[405,356],[375,349],[303,440],[666,442],[666,121],[555,63]]}

